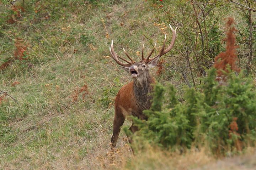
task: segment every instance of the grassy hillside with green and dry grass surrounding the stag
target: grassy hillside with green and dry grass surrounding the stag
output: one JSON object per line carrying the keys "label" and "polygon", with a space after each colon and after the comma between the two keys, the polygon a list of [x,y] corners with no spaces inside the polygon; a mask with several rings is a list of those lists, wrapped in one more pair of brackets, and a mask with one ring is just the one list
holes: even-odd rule
{"label": "grassy hillside with green and dry grass surrounding the stag", "polygon": [[[131,78],[109,56],[109,46],[114,39],[119,55],[125,48],[137,61],[143,44],[149,52],[157,43],[159,51],[171,30],[155,24],[154,1],[19,3],[0,2],[0,90],[18,102],[0,96],[0,169],[256,166],[254,149],[246,151],[246,159],[220,163],[213,155],[193,151],[176,156],[150,148],[134,156],[122,131],[116,153],[110,152],[114,97]],[[166,69],[156,76],[158,70],[152,75],[162,84],[174,84],[182,101],[182,74]]]}

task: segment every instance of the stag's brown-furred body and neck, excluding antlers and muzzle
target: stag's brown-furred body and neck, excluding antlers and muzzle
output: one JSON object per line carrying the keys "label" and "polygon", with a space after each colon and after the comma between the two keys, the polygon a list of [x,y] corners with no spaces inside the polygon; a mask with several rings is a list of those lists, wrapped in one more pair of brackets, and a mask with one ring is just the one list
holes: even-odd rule
{"label": "stag's brown-furred body and neck, excluding antlers and muzzle", "polygon": [[[111,138],[112,147],[116,146],[121,127],[127,116],[128,120],[131,120],[129,118],[130,115],[142,120],[148,120],[148,117],[143,114],[143,111],[151,107],[152,95],[148,94],[152,94],[153,87],[151,84],[155,84],[155,80],[149,75],[149,68],[145,62],[136,62],[134,65],[138,67],[138,77],[134,78],[129,84],[124,85],[116,96],[113,136]],[[142,70],[142,65],[146,65],[145,70]],[[138,131],[138,128],[132,124],[129,130],[134,133]],[[131,140],[129,141],[131,142]]]}

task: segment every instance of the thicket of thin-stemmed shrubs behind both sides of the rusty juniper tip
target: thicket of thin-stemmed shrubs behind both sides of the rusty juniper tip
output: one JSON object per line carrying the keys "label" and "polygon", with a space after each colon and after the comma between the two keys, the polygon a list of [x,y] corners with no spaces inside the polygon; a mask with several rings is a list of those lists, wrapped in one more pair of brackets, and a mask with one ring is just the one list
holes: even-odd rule
{"label": "thicket of thin-stemmed shrubs behind both sides of the rusty juniper tip", "polygon": [[[223,45],[223,18],[227,14],[236,17],[237,38],[241,49],[238,50],[239,67],[246,73],[255,74],[251,67],[255,55],[255,10],[254,2],[222,0],[165,0],[156,1],[158,10],[155,22],[166,23],[178,28],[178,36],[172,55],[165,58],[162,66],[182,74],[184,83],[189,87],[201,82],[197,77],[205,77],[206,69],[212,67],[215,56],[225,50]],[[165,30],[164,30],[165,31]],[[169,54],[170,55],[170,54]],[[177,60],[173,60],[177,58]]]}

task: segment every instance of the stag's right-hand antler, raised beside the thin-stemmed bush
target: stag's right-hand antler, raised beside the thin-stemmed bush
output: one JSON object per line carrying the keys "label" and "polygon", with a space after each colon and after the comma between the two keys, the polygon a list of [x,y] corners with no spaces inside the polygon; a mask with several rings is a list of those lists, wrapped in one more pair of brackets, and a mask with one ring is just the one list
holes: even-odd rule
{"label": "stag's right-hand antler, raised beside the thin-stemmed bush", "polygon": [[[169,24],[169,26],[171,27],[170,24]],[[149,53],[148,57],[147,57],[147,58],[144,58],[144,57],[142,56],[142,60],[145,61],[145,63],[148,63],[148,62],[150,62],[151,60],[155,59],[156,57],[158,57],[158,56],[161,57],[162,55],[165,55],[167,52],[169,52],[169,51],[172,49],[172,47],[174,46],[175,40],[176,40],[176,38],[177,38],[176,29],[177,29],[177,27],[175,28],[175,30],[171,27],[171,30],[172,30],[172,40],[171,40],[171,44],[169,45],[169,47],[168,47],[166,50],[164,50],[164,48],[165,48],[165,42],[166,42],[166,35],[165,35],[164,45],[162,46],[162,49],[161,49],[160,53],[159,53],[157,56],[155,56],[155,57],[149,59],[149,57],[152,55],[153,51],[155,50],[155,46],[156,46],[156,44],[155,44],[153,50]],[[143,45],[142,51],[143,51],[143,50],[144,50],[144,45]],[[143,54],[143,52],[142,52],[142,54]]]}

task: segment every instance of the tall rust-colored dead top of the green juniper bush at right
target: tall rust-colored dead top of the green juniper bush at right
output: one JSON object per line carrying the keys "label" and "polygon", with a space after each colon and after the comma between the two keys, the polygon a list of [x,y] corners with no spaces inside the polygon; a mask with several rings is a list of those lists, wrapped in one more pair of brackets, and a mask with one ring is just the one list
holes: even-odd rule
{"label": "tall rust-colored dead top of the green juniper bush at right", "polygon": [[217,69],[217,81],[226,80],[226,75],[223,74],[222,70],[225,72],[229,72],[228,70],[228,65],[230,66],[231,71],[236,71],[240,72],[240,68],[236,66],[235,61],[238,58],[235,55],[236,48],[238,47],[235,45],[235,35],[234,32],[237,31],[235,27],[232,27],[232,24],[234,24],[234,19],[233,18],[225,18],[228,21],[226,22],[226,51],[221,52],[216,58],[215,58],[215,63],[214,67]]}

